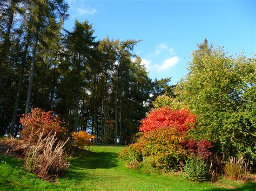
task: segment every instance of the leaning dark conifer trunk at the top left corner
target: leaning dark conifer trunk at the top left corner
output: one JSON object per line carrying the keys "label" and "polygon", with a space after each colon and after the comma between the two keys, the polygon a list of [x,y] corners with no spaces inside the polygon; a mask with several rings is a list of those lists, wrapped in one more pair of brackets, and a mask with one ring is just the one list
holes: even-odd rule
{"label": "leaning dark conifer trunk at the top left corner", "polygon": [[16,1],[11,2],[11,10],[9,13],[9,22],[8,22],[8,27],[4,39],[4,43],[2,45],[2,53],[1,55],[1,63],[0,63],[0,93],[2,90],[2,83],[3,83],[3,78],[4,78],[4,65],[6,60],[8,60],[8,55],[9,55],[9,48],[10,48],[10,34],[11,34],[11,27],[14,22],[14,6],[16,5]]}

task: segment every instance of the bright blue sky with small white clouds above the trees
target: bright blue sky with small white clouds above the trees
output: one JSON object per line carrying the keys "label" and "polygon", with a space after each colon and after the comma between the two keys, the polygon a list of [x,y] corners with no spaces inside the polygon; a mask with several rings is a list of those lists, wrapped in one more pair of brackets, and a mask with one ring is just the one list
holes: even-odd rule
{"label": "bright blue sky with small white clouds above the trees", "polygon": [[88,19],[98,39],[143,40],[135,48],[152,79],[172,77],[177,83],[187,73],[187,63],[197,44],[225,46],[231,53],[256,51],[254,0],[66,0],[70,17]]}

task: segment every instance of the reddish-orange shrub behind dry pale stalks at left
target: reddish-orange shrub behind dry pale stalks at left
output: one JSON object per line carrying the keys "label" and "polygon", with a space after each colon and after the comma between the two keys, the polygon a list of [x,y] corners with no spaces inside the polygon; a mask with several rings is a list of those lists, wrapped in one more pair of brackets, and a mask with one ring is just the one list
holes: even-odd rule
{"label": "reddish-orange shrub behind dry pale stalks at left", "polygon": [[37,143],[42,132],[42,138],[56,133],[58,140],[65,140],[66,130],[60,126],[60,119],[53,116],[52,111],[32,109],[29,114],[21,117],[20,122],[24,127],[21,131],[21,138],[25,142]]}

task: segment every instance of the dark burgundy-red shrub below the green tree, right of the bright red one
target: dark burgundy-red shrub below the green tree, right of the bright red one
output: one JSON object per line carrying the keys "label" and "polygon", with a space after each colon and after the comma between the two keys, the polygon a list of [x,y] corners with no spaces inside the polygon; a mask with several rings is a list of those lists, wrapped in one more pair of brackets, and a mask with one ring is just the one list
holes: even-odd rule
{"label": "dark burgundy-red shrub below the green tree, right of the bright red one", "polygon": [[207,160],[212,154],[210,148],[212,148],[213,145],[206,139],[200,140],[199,142],[195,142],[193,139],[191,139],[186,146],[190,154],[196,155],[204,160]]}

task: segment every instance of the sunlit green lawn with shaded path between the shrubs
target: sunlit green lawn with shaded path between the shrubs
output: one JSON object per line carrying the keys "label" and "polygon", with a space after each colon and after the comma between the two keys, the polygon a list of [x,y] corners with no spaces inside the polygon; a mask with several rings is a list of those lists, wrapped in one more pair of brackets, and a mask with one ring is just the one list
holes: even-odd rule
{"label": "sunlit green lawn with shaded path between the shrubs", "polygon": [[[85,157],[73,158],[66,175],[57,182],[39,180],[25,172],[22,161],[0,155],[0,190],[255,190],[255,182],[223,181],[218,185],[190,182],[177,175],[132,171],[117,159],[120,146],[92,146]],[[5,161],[6,164],[2,161]]]}

